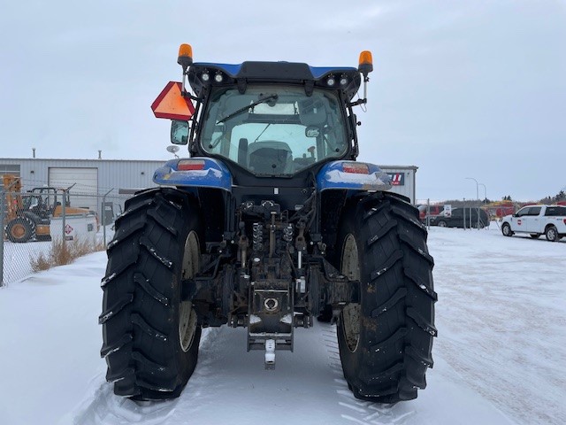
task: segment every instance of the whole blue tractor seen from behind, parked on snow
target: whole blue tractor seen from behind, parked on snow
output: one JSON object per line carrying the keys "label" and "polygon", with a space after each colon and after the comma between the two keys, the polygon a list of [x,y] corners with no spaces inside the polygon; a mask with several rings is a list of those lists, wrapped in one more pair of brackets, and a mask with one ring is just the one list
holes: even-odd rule
{"label": "whole blue tractor seen from behind, parked on snow", "polygon": [[206,327],[247,328],[272,368],[317,319],[336,324],[356,398],[416,398],[436,336],[433,260],[417,208],[356,161],[371,53],[358,68],[226,65],[182,44],[178,62],[182,81],[153,109],[188,158],[126,202],[108,245],[99,321],[114,392],[179,397]]}

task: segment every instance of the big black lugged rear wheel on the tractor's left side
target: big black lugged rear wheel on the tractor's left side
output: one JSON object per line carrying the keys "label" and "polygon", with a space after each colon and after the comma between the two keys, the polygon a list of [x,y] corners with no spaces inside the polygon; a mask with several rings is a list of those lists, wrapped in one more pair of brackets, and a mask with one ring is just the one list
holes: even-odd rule
{"label": "big black lugged rear wheel on the tractor's left side", "polygon": [[143,191],[116,220],[99,322],[119,396],[179,397],[195,370],[201,327],[181,281],[198,272],[199,222],[195,200],[176,189]]}

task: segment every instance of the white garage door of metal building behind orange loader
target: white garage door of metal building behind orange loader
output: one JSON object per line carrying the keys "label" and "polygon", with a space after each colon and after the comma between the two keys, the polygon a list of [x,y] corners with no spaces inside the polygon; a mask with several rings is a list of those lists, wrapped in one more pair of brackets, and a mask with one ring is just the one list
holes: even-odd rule
{"label": "white garage door of metal building behind orange loader", "polygon": [[98,168],[50,167],[49,185],[71,193],[71,205],[98,213]]}

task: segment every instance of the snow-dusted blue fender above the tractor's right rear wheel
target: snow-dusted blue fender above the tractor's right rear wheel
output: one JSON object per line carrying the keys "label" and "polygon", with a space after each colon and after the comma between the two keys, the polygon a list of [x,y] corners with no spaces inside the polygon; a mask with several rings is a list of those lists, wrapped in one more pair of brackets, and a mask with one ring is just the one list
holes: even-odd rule
{"label": "snow-dusted blue fender above the tractor's right rear wheel", "polygon": [[358,161],[332,161],[317,174],[317,190],[348,189],[381,191],[391,189],[391,178],[379,166]]}

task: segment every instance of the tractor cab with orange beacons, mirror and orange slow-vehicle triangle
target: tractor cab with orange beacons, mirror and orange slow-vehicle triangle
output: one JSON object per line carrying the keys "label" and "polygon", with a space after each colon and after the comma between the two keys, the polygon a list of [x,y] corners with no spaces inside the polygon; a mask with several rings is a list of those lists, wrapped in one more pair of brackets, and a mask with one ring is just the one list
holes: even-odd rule
{"label": "tractor cab with orange beacons, mirror and orange slow-vehicle triangle", "polygon": [[[185,51],[187,50],[187,51]],[[366,103],[372,71],[369,51],[358,68],[293,62],[193,63],[182,45],[180,83],[170,82],[152,109],[172,120],[173,144],[188,144],[191,157],[218,159],[235,184],[260,177],[305,176],[326,163],[355,160],[356,114]],[[354,101],[363,81],[363,98]],[[262,182],[264,180],[264,182]],[[302,181],[302,182],[299,182]]]}

